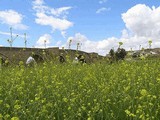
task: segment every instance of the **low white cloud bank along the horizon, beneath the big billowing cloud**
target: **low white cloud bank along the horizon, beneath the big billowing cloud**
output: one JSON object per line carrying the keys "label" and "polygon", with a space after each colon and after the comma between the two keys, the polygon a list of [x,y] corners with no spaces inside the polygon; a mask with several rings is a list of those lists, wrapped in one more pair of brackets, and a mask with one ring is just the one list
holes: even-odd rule
{"label": "low white cloud bank along the horizon, beneath the big billowing cloud", "polygon": [[[71,49],[76,49],[77,43],[80,43],[82,51],[96,52],[96,53],[99,53],[100,55],[108,54],[110,49],[112,48],[116,50],[118,48],[119,42],[124,43],[122,47],[125,48],[126,50],[130,50],[131,48],[133,50],[138,50],[140,45],[141,47],[144,47],[144,48],[149,47],[148,38],[142,37],[142,36],[123,37],[122,35],[121,38],[110,37],[110,38],[106,38],[106,39],[99,40],[99,41],[93,41],[87,38],[85,35],[76,33],[75,36],[68,38],[67,44],[63,45],[65,46],[65,48],[68,48],[69,40],[72,40]],[[160,45],[160,40],[157,39],[153,41],[154,43],[152,44],[152,47],[158,47],[158,45]]]}

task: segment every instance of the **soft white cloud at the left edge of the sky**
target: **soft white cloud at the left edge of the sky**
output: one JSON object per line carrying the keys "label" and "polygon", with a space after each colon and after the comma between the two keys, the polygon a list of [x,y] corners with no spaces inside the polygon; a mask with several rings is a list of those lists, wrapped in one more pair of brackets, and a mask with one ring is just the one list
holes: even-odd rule
{"label": "soft white cloud at the left edge of the sky", "polygon": [[0,21],[2,24],[7,24],[15,29],[25,30],[28,27],[22,24],[23,15],[14,10],[0,11]]}

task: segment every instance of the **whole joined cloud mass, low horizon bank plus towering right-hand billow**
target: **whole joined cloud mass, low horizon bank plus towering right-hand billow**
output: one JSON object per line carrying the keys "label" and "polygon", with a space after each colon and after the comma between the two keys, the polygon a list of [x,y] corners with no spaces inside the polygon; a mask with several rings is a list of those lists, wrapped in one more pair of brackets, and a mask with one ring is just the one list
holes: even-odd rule
{"label": "whole joined cloud mass, low horizon bank plus towering right-hand billow", "polygon": [[160,7],[150,8],[144,4],[138,4],[123,13],[122,19],[126,27],[121,31],[120,38],[109,37],[93,41],[81,33],[76,33],[68,37],[65,45],[62,42],[58,42],[57,45],[68,48],[69,41],[72,40],[71,49],[76,49],[77,43],[80,43],[80,50],[97,52],[100,55],[108,54],[111,48],[116,50],[119,42],[123,42],[122,47],[126,50],[149,48],[149,40],[153,42],[152,48],[160,46]]}

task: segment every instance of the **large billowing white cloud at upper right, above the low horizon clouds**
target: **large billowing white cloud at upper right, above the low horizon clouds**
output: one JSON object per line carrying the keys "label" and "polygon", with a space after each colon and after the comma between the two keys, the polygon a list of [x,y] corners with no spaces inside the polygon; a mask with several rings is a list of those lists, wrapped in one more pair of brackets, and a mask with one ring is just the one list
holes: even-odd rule
{"label": "large billowing white cloud at upper right, above the low horizon clouds", "polygon": [[160,37],[160,7],[138,4],[122,14],[126,28],[133,35],[151,38]]}

